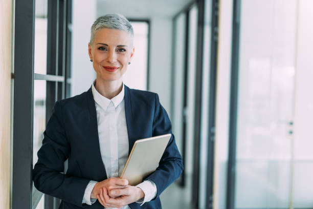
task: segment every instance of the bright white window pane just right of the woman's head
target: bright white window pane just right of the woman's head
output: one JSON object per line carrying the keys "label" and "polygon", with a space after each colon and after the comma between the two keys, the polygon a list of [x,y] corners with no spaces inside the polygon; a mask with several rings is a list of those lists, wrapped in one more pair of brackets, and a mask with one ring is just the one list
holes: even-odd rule
{"label": "bright white window pane just right of the woman's head", "polygon": [[147,90],[149,24],[146,22],[132,22],[131,25],[134,32],[135,54],[123,76],[123,81],[130,88]]}

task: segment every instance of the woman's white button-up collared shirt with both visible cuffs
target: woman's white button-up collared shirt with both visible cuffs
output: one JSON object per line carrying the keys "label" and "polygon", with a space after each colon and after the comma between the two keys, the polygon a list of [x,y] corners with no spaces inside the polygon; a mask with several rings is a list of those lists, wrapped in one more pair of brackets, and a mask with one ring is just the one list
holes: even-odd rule
{"label": "woman's white button-up collared shirt with both visible cuffs", "polygon": [[[95,82],[94,82],[95,83]],[[125,115],[124,84],[122,91],[112,99],[102,96],[92,85],[96,105],[98,134],[101,158],[107,178],[122,174],[128,158],[128,132]],[[96,199],[91,199],[91,192],[96,181],[90,181],[86,187],[82,203],[91,205]],[[153,181],[146,180],[137,185],[145,194],[144,204],[157,195],[157,186]],[[142,205],[141,204],[141,205]],[[130,209],[128,205],[123,209]]]}

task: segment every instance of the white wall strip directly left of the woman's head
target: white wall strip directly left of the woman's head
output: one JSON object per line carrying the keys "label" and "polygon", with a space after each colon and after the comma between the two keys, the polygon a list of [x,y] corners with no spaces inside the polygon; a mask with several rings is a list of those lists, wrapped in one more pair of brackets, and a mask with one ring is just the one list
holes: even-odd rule
{"label": "white wall strip directly left of the woman's head", "polygon": [[72,26],[72,92],[77,95],[87,91],[96,73],[88,55],[90,29],[96,20],[97,1],[73,1]]}

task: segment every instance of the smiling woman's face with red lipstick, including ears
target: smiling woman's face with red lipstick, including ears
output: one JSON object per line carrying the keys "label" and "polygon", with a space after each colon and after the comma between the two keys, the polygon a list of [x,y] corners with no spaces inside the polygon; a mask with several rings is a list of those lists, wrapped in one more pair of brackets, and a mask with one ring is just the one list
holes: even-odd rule
{"label": "smiling woman's face with red lipstick, including ears", "polygon": [[121,80],[135,51],[130,35],[122,30],[103,28],[96,32],[93,45],[88,44],[90,59],[103,81]]}

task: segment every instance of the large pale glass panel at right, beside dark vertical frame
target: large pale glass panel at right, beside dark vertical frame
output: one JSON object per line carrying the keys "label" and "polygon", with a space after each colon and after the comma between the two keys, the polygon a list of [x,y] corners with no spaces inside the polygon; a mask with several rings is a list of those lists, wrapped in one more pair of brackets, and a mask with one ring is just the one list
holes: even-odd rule
{"label": "large pale glass panel at right, beside dark vertical frame", "polygon": [[296,1],[241,1],[235,208],[289,208]]}

